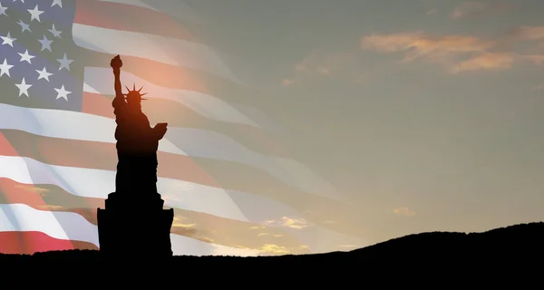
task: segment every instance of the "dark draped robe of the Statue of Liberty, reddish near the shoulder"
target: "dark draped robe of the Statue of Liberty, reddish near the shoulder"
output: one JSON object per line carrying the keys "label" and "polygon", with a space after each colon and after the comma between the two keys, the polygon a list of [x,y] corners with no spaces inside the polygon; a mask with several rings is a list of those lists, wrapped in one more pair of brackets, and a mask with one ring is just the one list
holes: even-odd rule
{"label": "dark draped robe of the Statue of Liberty, reddish near the shoulder", "polygon": [[131,109],[121,98],[112,105],[117,123],[116,191],[156,193],[159,138],[141,110]]}

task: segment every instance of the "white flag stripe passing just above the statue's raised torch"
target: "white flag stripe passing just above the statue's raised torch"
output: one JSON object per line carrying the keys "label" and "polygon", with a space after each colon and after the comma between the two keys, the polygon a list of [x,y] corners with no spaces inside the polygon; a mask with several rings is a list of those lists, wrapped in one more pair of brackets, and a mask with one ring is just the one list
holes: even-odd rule
{"label": "white flag stripe passing just above the statue's raised torch", "polygon": [[73,24],[72,34],[76,45],[95,52],[131,55],[159,63],[179,65],[217,74],[240,83],[216,53],[202,43],[85,24]]}

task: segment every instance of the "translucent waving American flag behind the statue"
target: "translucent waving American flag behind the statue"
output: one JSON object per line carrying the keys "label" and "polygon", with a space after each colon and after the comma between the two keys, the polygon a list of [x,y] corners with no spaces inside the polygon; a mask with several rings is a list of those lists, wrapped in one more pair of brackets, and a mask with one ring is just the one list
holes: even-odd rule
{"label": "translucent waving American flag behind the statue", "polygon": [[148,92],[151,124],[169,122],[158,189],[175,210],[174,255],[361,243],[335,189],[288,157],[258,96],[187,28],[195,15],[178,0],[0,0],[0,252],[100,247],[96,208],[117,163],[116,54],[122,84]]}

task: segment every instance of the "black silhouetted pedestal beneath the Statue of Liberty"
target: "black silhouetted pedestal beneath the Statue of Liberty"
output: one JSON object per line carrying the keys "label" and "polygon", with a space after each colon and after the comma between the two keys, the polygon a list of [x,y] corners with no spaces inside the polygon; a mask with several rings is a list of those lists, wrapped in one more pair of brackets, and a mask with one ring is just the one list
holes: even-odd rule
{"label": "black silhouetted pedestal beneath the Statue of Liberty", "polygon": [[172,256],[173,209],[163,209],[160,194],[112,192],[98,208],[100,251],[106,256],[160,258]]}

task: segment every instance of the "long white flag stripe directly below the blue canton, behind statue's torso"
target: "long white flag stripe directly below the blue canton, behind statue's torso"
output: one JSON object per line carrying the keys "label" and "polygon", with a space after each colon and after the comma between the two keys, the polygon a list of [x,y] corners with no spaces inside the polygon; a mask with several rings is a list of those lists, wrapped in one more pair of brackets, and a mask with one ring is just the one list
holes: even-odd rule
{"label": "long white flag stripe directly below the blue canton, behind statue's torso", "polygon": [[[0,104],[0,129],[27,131],[69,140],[115,143],[115,121],[75,111],[24,108]],[[288,185],[309,193],[343,200],[333,186],[296,160],[248,150],[235,140],[213,131],[170,128],[159,150],[191,157],[233,161],[267,171]]]}

